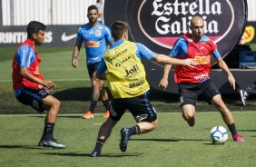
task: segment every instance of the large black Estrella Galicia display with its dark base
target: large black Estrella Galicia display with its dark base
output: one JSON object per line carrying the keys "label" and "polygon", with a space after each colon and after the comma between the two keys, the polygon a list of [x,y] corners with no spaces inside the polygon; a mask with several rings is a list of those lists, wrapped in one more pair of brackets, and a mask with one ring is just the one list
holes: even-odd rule
{"label": "large black Estrella Galicia display with its dark base", "polygon": [[[232,48],[240,42],[246,25],[246,0],[105,0],[104,3],[106,25],[111,25],[116,20],[127,22],[130,25],[131,41],[145,44],[161,54],[169,54],[175,40],[182,34],[190,33],[189,25],[193,15],[200,15],[205,20],[205,34],[218,45],[222,57],[230,56]],[[159,89],[162,65],[145,60],[143,64],[151,87]],[[214,81],[220,91],[236,93],[226,83],[225,74],[220,72],[222,71],[211,72],[211,77],[216,79]],[[173,73],[171,70],[169,86],[165,91],[178,93],[177,84],[173,82]],[[235,77],[238,76],[237,82],[241,83],[241,87],[251,83],[250,79],[240,77],[246,76],[246,73],[234,73]]]}

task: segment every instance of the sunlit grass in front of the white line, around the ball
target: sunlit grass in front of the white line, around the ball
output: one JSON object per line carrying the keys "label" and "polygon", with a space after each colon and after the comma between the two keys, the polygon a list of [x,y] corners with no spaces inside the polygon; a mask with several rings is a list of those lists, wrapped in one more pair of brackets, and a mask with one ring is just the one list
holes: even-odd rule
{"label": "sunlit grass in front of the white line, around the ball", "polygon": [[66,145],[64,150],[38,147],[43,133],[44,115],[0,115],[0,164],[5,166],[255,166],[255,112],[235,112],[238,132],[246,142],[233,142],[231,133],[223,145],[213,145],[209,133],[222,125],[221,114],[196,113],[193,128],[181,113],[158,113],[159,124],[152,133],[134,135],[126,152],[119,150],[120,129],[134,124],[125,113],[103,145],[100,158],[91,158],[98,129],[104,119],[96,114],[83,120],[80,114],[62,114],[54,136]]}

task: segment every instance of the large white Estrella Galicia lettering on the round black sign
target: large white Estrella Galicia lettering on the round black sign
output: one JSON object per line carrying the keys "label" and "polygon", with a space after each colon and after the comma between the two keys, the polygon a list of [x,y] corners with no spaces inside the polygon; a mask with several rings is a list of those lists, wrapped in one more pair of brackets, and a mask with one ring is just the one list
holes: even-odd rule
{"label": "large white Estrella Galicia lettering on the round black sign", "polygon": [[[222,4],[218,1],[210,5],[210,0],[196,0],[194,2],[179,2],[175,0],[173,3],[162,4],[162,0],[153,1],[153,13],[152,15],[157,15],[159,18],[155,22],[155,29],[159,34],[187,34],[191,33],[191,30],[187,28],[190,25],[192,16],[185,15],[202,15],[204,20],[207,19],[207,15],[221,15],[222,14]],[[181,21],[172,21],[170,15],[184,15],[181,17]],[[218,22],[212,20],[207,23],[204,21],[204,32],[205,33],[218,33]]]}

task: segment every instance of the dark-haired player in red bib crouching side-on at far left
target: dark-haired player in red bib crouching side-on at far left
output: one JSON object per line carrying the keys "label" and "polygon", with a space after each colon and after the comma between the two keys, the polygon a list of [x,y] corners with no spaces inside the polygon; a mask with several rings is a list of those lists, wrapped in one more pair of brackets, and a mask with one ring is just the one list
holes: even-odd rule
{"label": "dark-haired player in red bib crouching side-on at far left", "polygon": [[27,25],[27,39],[16,50],[13,61],[13,87],[16,99],[25,105],[30,105],[38,113],[47,110],[44,121],[44,133],[39,146],[64,149],[65,146],[54,139],[54,124],[56,122],[60,102],[49,92],[56,87],[52,81],[44,80],[39,73],[42,61],[35,46],[44,44],[46,26],[32,21]]}

